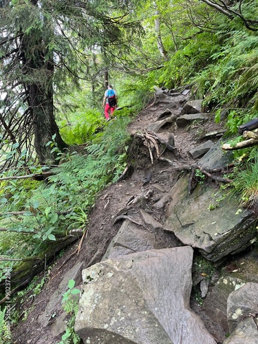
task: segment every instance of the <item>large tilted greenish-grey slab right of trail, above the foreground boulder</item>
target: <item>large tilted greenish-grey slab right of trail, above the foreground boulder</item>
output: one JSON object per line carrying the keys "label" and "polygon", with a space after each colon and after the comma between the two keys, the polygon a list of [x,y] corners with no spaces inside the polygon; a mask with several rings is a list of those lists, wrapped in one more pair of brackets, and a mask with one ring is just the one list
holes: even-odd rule
{"label": "large tilted greenish-grey slab right of trail, above the foreground boulder", "polygon": [[191,195],[189,178],[180,178],[171,189],[171,203],[164,229],[175,234],[183,244],[199,248],[204,257],[219,261],[250,246],[255,235],[252,212],[240,209],[234,202],[216,200],[223,194],[211,186],[197,185]]}

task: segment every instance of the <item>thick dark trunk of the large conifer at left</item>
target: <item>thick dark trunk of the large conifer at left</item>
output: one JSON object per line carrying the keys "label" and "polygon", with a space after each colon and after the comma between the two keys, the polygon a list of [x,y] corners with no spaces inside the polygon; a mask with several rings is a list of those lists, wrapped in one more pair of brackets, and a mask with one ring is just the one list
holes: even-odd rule
{"label": "thick dark trunk of the large conifer at left", "polygon": [[[36,5],[37,0],[32,0]],[[44,18],[43,18],[44,19]],[[43,21],[45,23],[45,21]],[[52,28],[45,28],[52,35]],[[34,40],[34,36],[39,39]],[[23,55],[23,64],[28,74],[32,74],[32,81],[25,85],[29,95],[30,114],[32,115],[34,129],[34,147],[40,164],[53,164],[56,152],[47,142],[54,141],[59,150],[63,151],[68,145],[62,140],[58,126],[54,118],[53,102],[53,52],[47,48],[47,39],[43,39],[42,33],[32,30],[30,36],[23,36],[23,51],[32,45],[33,54]],[[48,56],[46,59],[45,56]]]}

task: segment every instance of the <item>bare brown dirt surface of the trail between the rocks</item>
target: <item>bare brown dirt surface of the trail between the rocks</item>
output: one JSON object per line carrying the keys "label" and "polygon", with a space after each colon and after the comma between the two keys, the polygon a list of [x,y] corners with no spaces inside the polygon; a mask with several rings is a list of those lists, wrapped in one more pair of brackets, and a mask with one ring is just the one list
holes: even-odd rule
{"label": "bare brown dirt surface of the trail between the rocks", "polygon": [[[129,155],[131,155],[131,168],[129,172],[120,182],[108,186],[107,189],[98,195],[94,209],[89,217],[87,237],[83,241],[79,254],[73,255],[76,248],[78,248],[78,242],[76,242],[65,251],[62,257],[52,262],[52,266],[47,272],[47,281],[40,294],[36,296],[28,294],[22,305],[15,305],[17,309],[20,308],[21,310],[21,319],[19,324],[12,328],[13,343],[58,343],[61,340],[61,336],[54,338],[50,326],[43,327],[39,325],[37,319],[44,312],[47,300],[50,299],[59,283],[61,283],[65,273],[78,264],[78,262],[83,262],[83,268],[87,268],[101,260],[111,239],[113,239],[120,227],[120,224],[114,224],[114,219],[126,208],[131,197],[139,195],[146,188],[147,184],[146,181],[144,182],[144,178],[149,173],[151,173],[150,183],[155,183],[162,179],[164,186],[169,188],[175,184],[180,172],[173,171],[173,167],[164,161],[156,159],[152,164],[147,147],[139,138],[136,138],[136,134],[144,132],[151,122],[155,122],[166,109],[166,106],[172,101],[177,105],[171,109],[172,114],[178,116],[180,114],[180,107],[184,105],[186,100],[183,96],[156,100],[154,105],[141,111],[131,122],[128,130],[134,139],[129,149]],[[112,125],[112,121],[109,122],[109,125]],[[202,143],[202,135],[204,133],[221,128],[222,125],[215,124],[212,116],[210,121],[204,122],[202,125],[195,124],[182,129],[169,124],[159,131],[158,136],[166,140],[173,133],[179,159],[177,160],[171,155],[171,152],[168,153],[166,151],[162,153],[162,156],[165,158],[169,157],[169,159],[178,164],[193,164],[195,161],[189,155],[189,150]],[[151,215],[159,221],[162,220],[162,214],[160,213]],[[44,273],[39,277],[39,280],[44,276]],[[78,279],[77,283],[80,283],[80,279]],[[28,308],[30,312],[25,319],[25,312]],[[60,302],[56,313],[60,314],[61,312]],[[215,327],[213,327],[213,331],[217,331]]]}

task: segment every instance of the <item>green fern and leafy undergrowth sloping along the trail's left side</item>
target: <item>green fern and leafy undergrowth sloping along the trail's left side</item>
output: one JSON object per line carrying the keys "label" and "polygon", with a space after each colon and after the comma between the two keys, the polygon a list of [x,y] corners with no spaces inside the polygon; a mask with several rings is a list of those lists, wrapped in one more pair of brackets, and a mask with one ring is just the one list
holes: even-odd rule
{"label": "green fern and leafy undergrowth sloping along the trail's left side", "polygon": [[[98,193],[116,182],[127,164],[129,121],[129,116],[117,116],[105,125],[101,136],[87,143],[83,152],[62,155],[63,163],[52,169],[54,174],[47,182],[33,180],[30,184],[28,179],[2,182],[1,288],[4,269],[16,270],[21,264],[30,266],[30,259],[41,257],[44,250],[58,244],[73,230],[87,230],[87,215]],[[50,144],[56,149],[54,141]]]}

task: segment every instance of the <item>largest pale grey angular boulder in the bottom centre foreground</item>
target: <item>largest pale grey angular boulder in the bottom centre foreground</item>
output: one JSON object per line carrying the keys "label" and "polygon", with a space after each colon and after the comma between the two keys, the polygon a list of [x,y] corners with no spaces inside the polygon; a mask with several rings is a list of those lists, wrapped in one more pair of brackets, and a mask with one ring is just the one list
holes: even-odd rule
{"label": "largest pale grey angular boulder in the bottom centre foreground", "polygon": [[75,330],[91,344],[215,344],[190,309],[193,249],[164,248],[83,270]]}

